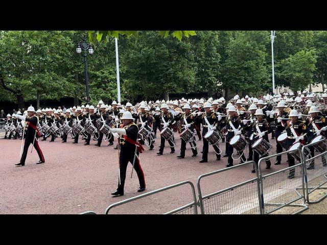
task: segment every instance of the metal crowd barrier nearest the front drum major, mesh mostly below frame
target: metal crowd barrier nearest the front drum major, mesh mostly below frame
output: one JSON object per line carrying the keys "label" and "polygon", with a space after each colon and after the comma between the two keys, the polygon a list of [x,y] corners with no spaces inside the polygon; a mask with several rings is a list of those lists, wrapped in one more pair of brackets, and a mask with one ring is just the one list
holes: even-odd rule
{"label": "metal crowd barrier nearest the front drum major, mesh mostly below frame", "polygon": [[198,214],[198,209],[197,209],[198,204],[197,204],[197,200],[196,200],[195,188],[194,188],[194,185],[193,185],[193,183],[191,181],[183,181],[183,182],[180,182],[180,183],[177,183],[177,184],[174,184],[174,185],[166,186],[164,188],[160,188],[160,189],[153,190],[153,191],[141,194],[141,195],[137,195],[136,197],[133,197],[133,198],[129,198],[129,199],[117,202],[117,203],[113,203],[113,204],[111,204],[110,206],[107,207],[105,214],[108,214],[110,209],[112,209],[114,207],[117,207],[117,206],[129,203],[129,202],[135,201],[137,199],[145,198],[145,197],[148,197],[149,195],[153,195],[153,194],[156,194],[156,193],[168,190],[168,189],[172,189],[172,188],[175,188],[175,187],[178,187],[178,186],[181,186],[181,185],[190,185],[191,186],[192,194],[193,194],[193,202],[190,203],[190,204],[184,205],[184,206],[182,206],[180,208],[174,209],[174,210],[172,210],[170,212],[167,212],[165,214]]}

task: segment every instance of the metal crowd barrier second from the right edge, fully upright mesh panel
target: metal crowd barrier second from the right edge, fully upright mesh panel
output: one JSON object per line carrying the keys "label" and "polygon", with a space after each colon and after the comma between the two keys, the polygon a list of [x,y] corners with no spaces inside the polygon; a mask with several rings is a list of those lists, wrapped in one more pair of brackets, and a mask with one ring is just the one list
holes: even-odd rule
{"label": "metal crowd barrier second from the right edge, fully upright mesh panel", "polygon": [[[271,174],[262,175],[261,165],[263,161],[292,152],[297,152],[299,154],[301,162],[296,164],[296,160],[294,159],[294,166],[286,167]],[[259,160],[258,177],[260,180],[261,209],[263,214],[273,213],[284,207],[302,207],[302,209],[293,213],[298,214],[309,208],[305,205],[305,180],[303,168],[305,167],[300,149],[274,154]],[[294,178],[289,179],[288,176],[293,173],[293,171]],[[298,191],[299,189],[300,191]],[[294,204],[301,199],[301,204]]]}

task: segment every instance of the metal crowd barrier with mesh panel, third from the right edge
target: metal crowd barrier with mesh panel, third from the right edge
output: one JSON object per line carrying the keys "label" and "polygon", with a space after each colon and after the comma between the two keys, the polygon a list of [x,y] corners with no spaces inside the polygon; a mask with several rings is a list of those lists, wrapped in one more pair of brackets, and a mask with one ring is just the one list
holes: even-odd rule
{"label": "metal crowd barrier with mesh panel, third from the right edge", "polygon": [[[198,177],[197,187],[201,214],[261,214],[259,178],[233,185],[217,192],[202,196],[200,181],[204,177],[221,174],[224,171],[254,164],[245,162],[228,168],[212,171]],[[256,173],[258,167],[254,164]]]}

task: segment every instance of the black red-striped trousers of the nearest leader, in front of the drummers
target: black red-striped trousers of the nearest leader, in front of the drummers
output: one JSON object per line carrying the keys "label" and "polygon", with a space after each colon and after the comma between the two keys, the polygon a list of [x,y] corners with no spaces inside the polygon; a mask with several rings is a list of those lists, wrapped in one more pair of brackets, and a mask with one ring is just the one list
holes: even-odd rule
{"label": "black red-striped trousers of the nearest leader, in front of the drummers", "polygon": [[[137,153],[137,155],[138,155],[138,153]],[[127,154],[125,152],[120,152],[119,160],[120,160],[121,183],[119,183],[119,179],[118,179],[118,188],[117,188],[117,190],[124,192],[127,164],[128,164],[128,162],[133,164],[134,151],[132,153],[130,152],[130,153],[127,153]],[[141,188],[145,188],[146,185],[145,185],[145,178],[144,178],[143,169],[142,169],[141,164],[139,163],[139,160],[137,159],[137,157],[135,157],[134,169],[135,169],[137,177],[138,177],[139,186]]]}

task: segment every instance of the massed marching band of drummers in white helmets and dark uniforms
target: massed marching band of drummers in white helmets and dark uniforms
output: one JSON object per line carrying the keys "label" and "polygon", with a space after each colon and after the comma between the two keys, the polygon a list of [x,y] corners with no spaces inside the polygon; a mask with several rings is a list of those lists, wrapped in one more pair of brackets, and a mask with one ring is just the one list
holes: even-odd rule
{"label": "massed marching band of drummers in white helmets and dark uniforms", "polygon": [[[38,109],[36,117],[42,140],[51,136],[51,142],[61,138],[62,142],[66,143],[67,138],[71,137],[77,144],[82,137],[85,140],[84,144],[90,145],[93,138],[97,141],[96,146],[101,146],[103,139],[108,141],[108,145],[113,145],[114,138],[122,139],[119,134],[121,132],[119,129],[123,125],[122,118],[128,118],[134,121],[129,127],[133,126],[133,130],[138,131],[137,137],[133,135],[135,138],[133,140],[146,145],[148,150],[154,149],[154,143],[159,138],[157,134],[159,130],[160,146],[157,155],[164,154],[166,141],[170,146],[170,153],[175,152],[174,132],[178,132],[181,148],[177,158],[185,158],[188,143],[193,153],[192,157],[196,157],[197,140],[203,140],[200,163],[208,161],[209,144],[213,146],[216,160],[221,160],[223,152],[219,148],[219,142],[225,142],[223,157],[228,157],[226,167],[230,167],[233,166],[233,160],[240,159],[240,163],[253,160],[258,164],[260,158],[269,156],[272,149],[272,142],[269,142],[268,137],[270,133],[271,139],[274,139],[276,144],[276,153],[298,149],[302,145],[324,138],[327,129],[326,105],[326,93],[319,97],[318,94],[307,94],[303,91],[298,92],[297,95],[290,92],[290,94],[273,96],[267,94],[259,98],[246,95],[245,98],[240,99],[239,95],[235,95],[228,103],[224,97],[217,100],[211,97],[207,100],[182,98],[175,101],[157,100],[149,103],[143,101],[134,106],[129,102],[124,106],[115,101],[108,106],[103,101],[99,101],[96,106],[74,106],[66,111],[55,108]],[[131,116],[127,117],[127,112]],[[24,137],[25,122],[21,118],[28,118],[26,113],[27,111],[21,116],[19,111],[17,114],[7,115],[5,138]],[[126,130],[129,127],[125,127]],[[119,144],[114,149],[119,149]],[[318,144],[317,147],[311,146],[309,149],[308,155],[314,156],[315,151],[325,151],[326,146]],[[132,156],[128,156],[129,158]],[[124,161],[128,160],[126,159]],[[293,166],[295,160],[299,160],[299,156],[288,154],[289,166]],[[274,164],[281,164],[281,161],[281,156],[278,156]],[[323,158],[322,161],[326,166],[326,159]],[[266,168],[269,169],[270,166],[271,162],[268,159]],[[140,168],[141,165],[137,168],[137,174],[142,179],[140,183],[143,189],[145,182]],[[314,163],[311,163],[308,169],[313,168]],[[252,173],[255,172],[254,169],[253,166]],[[125,175],[125,170],[123,169],[122,175]],[[293,172],[289,172],[288,177],[294,178],[294,169]],[[124,179],[125,176],[121,176],[120,181],[124,182]],[[124,183],[119,185],[118,193],[123,193],[123,186]]]}

